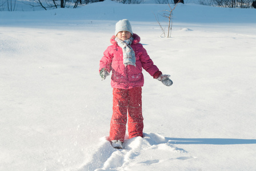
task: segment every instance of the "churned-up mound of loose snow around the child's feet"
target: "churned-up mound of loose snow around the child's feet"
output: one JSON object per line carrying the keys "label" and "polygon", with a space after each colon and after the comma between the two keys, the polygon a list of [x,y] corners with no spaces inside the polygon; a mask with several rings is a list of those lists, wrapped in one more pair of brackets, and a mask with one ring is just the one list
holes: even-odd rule
{"label": "churned-up mound of loose snow around the child's feet", "polygon": [[112,148],[107,137],[100,139],[99,145],[91,151],[91,157],[82,170],[141,170],[164,169],[165,162],[195,158],[186,150],[176,148],[170,140],[157,133],[144,133],[142,137],[127,139],[123,149]]}

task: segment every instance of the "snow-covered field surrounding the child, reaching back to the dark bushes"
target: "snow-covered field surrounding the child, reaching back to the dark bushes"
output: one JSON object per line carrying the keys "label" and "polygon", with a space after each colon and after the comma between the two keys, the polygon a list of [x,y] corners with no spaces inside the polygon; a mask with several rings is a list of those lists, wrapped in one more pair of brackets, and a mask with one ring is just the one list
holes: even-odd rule
{"label": "snow-covered field surrounding the child, reaching back to the dark bushes", "polygon": [[[0,11],[0,170],[256,170],[256,10],[179,4],[163,38],[165,9]],[[174,84],[143,72],[145,137],[117,150],[98,68],[124,18]]]}

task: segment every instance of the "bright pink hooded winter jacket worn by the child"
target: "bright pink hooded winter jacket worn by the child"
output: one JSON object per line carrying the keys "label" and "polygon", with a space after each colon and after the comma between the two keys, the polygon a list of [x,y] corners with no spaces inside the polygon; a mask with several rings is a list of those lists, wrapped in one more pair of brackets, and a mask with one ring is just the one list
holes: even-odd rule
{"label": "bright pink hooded winter jacket worn by the child", "polygon": [[151,76],[159,72],[157,66],[147,55],[147,51],[139,43],[141,38],[137,34],[133,34],[133,43],[131,48],[135,52],[136,67],[132,65],[123,64],[123,51],[115,41],[115,36],[110,39],[111,46],[107,47],[104,52],[104,56],[99,63],[99,71],[105,68],[108,72],[112,71],[111,87],[130,89],[134,87],[142,87],[144,84],[144,78],[142,74],[142,68],[149,72]]}

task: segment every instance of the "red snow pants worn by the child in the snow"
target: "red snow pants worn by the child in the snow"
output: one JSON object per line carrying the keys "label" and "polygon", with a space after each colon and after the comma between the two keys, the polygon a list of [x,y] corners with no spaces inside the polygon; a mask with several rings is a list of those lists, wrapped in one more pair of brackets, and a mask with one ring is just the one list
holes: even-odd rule
{"label": "red snow pants worn by the child in the snow", "polygon": [[142,88],[113,88],[113,115],[110,140],[125,140],[127,112],[129,139],[143,136]]}

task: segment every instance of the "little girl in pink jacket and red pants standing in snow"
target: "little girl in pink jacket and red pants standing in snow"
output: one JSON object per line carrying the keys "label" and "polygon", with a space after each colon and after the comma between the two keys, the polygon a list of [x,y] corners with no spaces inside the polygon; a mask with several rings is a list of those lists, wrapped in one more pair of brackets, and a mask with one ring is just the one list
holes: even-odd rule
{"label": "little girl in pink jacket and red pants standing in snow", "polygon": [[129,139],[143,137],[142,86],[144,78],[142,68],[154,79],[166,86],[173,82],[170,75],[163,75],[154,65],[142,44],[141,38],[131,30],[131,24],[123,19],[115,25],[115,35],[110,39],[99,64],[102,80],[112,71],[113,115],[110,124],[110,142],[114,148],[122,149],[125,139],[127,113]]}

